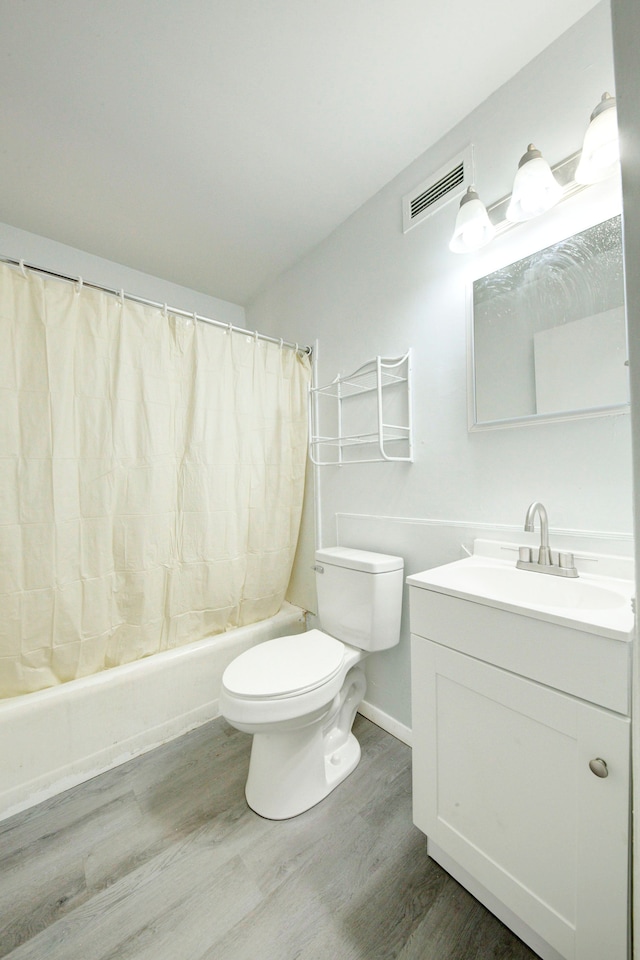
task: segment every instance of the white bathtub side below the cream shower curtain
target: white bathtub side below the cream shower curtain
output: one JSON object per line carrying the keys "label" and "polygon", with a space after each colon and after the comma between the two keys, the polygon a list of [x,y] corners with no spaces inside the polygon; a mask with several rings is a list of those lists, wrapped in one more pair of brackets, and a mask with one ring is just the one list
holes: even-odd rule
{"label": "white bathtub side below the cream shower curtain", "polygon": [[304,612],[285,603],[261,623],[0,700],[0,820],[217,717],[227,664],[304,630]]}

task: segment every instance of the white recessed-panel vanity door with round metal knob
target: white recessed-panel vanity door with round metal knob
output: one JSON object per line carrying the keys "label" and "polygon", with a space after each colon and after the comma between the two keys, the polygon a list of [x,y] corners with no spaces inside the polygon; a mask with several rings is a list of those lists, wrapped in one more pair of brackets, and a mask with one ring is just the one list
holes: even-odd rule
{"label": "white recessed-panel vanity door with round metal knob", "polygon": [[624,960],[628,719],[416,636],[412,676],[416,825],[561,956]]}

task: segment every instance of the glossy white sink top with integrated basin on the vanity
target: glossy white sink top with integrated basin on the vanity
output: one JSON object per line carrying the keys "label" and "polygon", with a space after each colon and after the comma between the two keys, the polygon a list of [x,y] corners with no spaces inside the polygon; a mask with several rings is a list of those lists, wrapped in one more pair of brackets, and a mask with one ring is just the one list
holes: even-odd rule
{"label": "glossy white sink top with integrated basin on the vanity", "polygon": [[516,558],[509,562],[474,554],[415,574],[408,582],[605,636],[622,638],[633,630],[632,579],[582,572],[574,579],[518,570]]}

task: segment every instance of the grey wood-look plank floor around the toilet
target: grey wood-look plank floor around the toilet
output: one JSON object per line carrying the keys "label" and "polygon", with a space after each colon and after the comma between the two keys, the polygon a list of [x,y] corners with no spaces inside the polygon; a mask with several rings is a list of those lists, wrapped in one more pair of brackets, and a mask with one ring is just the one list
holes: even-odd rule
{"label": "grey wood-look plank floor around the toilet", "polygon": [[0,824],[11,960],[535,960],[426,855],[411,751],[363,758],[313,810],[248,809],[222,719]]}

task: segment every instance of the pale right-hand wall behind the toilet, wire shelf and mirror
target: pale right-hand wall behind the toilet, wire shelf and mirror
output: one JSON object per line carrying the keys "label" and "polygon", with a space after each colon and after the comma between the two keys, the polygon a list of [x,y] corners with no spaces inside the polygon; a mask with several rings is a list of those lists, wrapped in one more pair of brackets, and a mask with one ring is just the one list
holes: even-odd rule
{"label": "pale right-hand wall behind the toilet, wire shelf and mirror", "polygon": [[[615,196],[595,191],[592,203],[585,193],[475,257],[448,250],[455,204],[406,235],[401,223],[402,196],[469,142],[486,203],[510,192],[531,140],[552,164],[578,150],[605,90],[614,92],[609,7],[603,3],[248,307],[250,326],[299,342],[319,338],[320,382],[375,354],[398,356],[414,348],[415,463],[321,468],[325,545],[400,553],[409,573],[457,559],[461,542],[468,545],[494,525],[494,533],[526,542],[525,511],[540,499],[549,511],[552,543],[560,530],[594,532],[592,546],[611,548],[612,538],[616,552],[631,551],[628,415],[482,433],[467,429],[470,276],[605,219],[615,212]],[[308,552],[300,562],[311,562]],[[376,708],[406,725],[408,647],[405,617],[400,647],[369,661],[367,694]]]}

